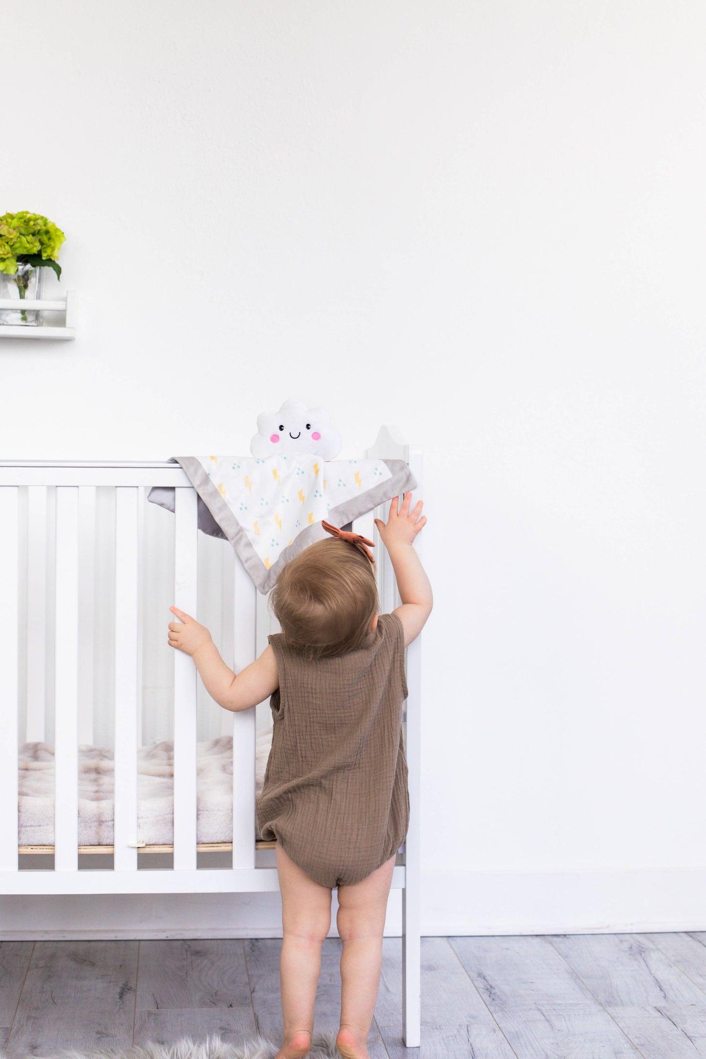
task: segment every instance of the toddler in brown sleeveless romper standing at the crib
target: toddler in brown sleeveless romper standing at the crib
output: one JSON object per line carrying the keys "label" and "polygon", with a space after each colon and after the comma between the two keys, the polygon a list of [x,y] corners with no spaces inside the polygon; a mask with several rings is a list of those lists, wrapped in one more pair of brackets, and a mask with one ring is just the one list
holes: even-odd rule
{"label": "toddler in brown sleeveless romper standing at the crib", "polygon": [[395,855],[410,802],[401,710],[404,647],[419,635],[432,591],[413,545],[424,525],[411,493],[376,519],[402,604],[378,614],[374,559],[365,538],[324,523],[332,537],[285,566],[272,593],[282,632],[236,677],[207,629],[173,607],[169,644],[194,659],[225,710],[270,697],[272,749],[257,800],[257,825],[276,840],[283,904],[284,1043],[276,1059],[311,1046],[321,947],[338,887],[341,1026],[345,1059],[367,1059],[380,984],[382,932]]}

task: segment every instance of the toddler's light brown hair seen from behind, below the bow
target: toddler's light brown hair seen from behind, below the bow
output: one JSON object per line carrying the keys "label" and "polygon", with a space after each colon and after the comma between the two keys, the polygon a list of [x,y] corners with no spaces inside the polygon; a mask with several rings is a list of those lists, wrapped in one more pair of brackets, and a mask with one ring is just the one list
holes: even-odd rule
{"label": "toddler's light brown hair seen from behind, below the bow", "polygon": [[378,612],[373,563],[347,541],[320,540],[283,567],[270,606],[288,647],[310,659],[345,654]]}

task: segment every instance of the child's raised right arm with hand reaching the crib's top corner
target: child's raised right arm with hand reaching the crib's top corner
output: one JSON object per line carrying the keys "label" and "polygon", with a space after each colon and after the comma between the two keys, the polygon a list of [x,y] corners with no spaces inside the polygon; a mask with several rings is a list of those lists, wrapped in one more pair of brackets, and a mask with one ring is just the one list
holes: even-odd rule
{"label": "child's raised right arm with hand reaching the crib's top corner", "polygon": [[402,599],[402,606],[393,613],[398,615],[404,628],[405,647],[423,629],[434,603],[429,577],[413,546],[414,538],[427,522],[427,517],[421,514],[421,500],[410,514],[411,500],[412,493],[405,492],[398,511],[399,497],[396,497],[390,505],[386,524],[382,519],[375,520],[382,543],[390,553]]}

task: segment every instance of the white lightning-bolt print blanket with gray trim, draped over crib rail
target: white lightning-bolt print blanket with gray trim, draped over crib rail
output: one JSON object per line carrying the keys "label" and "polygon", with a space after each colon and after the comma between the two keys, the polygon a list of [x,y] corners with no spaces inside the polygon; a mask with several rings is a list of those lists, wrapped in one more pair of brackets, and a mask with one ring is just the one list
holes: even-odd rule
{"label": "white lightning-bolt print blanket with gray trim, draped over crib rail", "polygon": [[[322,460],[316,455],[176,456],[199,495],[199,528],[235,549],[260,592],[283,566],[327,534],[416,485],[403,460]],[[174,489],[149,500],[174,510]]]}

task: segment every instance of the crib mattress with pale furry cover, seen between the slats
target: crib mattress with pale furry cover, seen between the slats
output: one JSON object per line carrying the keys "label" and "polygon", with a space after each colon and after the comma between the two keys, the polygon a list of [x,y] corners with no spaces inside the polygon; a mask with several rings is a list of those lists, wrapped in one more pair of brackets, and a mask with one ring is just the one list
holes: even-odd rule
{"label": "crib mattress with pale furry cover, seen between the slats", "polygon": [[[256,743],[255,789],[263,789],[272,732]],[[199,845],[233,841],[233,739],[221,736],[197,744]],[[258,836],[256,836],[257,838]],[[174,842],[174,743],[138,749],[138,842]],[[105,747],[78,749],[78,845],[113,844],[113,753]],[[54,845],[54,748],[25,742],[19,748],[19,845]]]}

